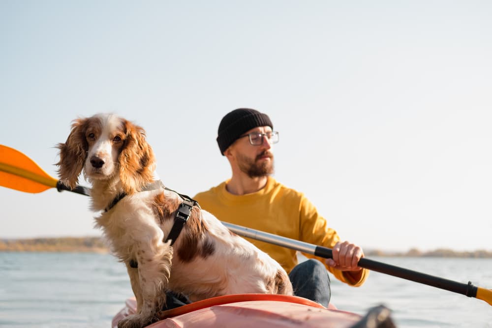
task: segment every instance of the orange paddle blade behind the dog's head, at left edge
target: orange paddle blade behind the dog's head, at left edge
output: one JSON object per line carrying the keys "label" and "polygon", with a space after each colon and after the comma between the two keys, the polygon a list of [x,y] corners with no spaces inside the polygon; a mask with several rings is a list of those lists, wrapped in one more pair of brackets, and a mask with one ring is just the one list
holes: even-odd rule
{"label": "orange paddle blade behind the dog's head, at left edge", "polygon": [[31,193],[56,188],[58,180],[50,177],[22,152],[0,145],[0,185]]}

